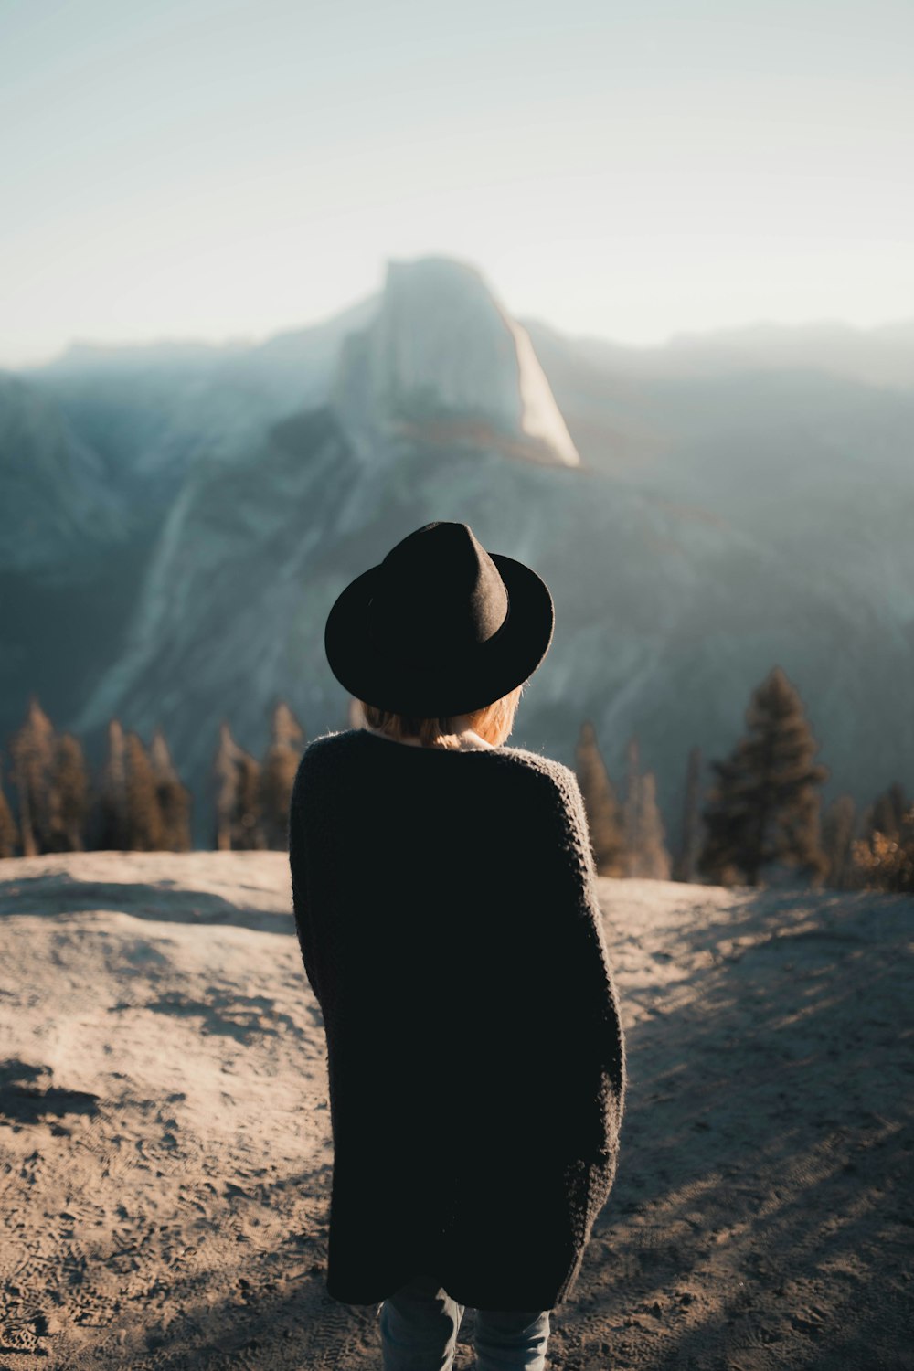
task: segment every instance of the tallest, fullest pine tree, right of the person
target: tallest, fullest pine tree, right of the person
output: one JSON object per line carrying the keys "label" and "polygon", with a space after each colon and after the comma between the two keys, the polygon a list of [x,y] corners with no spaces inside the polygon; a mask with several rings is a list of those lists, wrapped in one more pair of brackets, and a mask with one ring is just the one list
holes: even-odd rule
{"label": "tallest, fullest pine tree, right of the person", "polygon": [[699,869],[725,884],[740,873],[750,886],[770,862],[819,880],[828,860],[819,846],[819,792],[828,769],[813,762],[818,744],[803,705],[780,666],[752,692],[748,738],[726,761],[711,762],[717,781],[703,812],[706,840]]}

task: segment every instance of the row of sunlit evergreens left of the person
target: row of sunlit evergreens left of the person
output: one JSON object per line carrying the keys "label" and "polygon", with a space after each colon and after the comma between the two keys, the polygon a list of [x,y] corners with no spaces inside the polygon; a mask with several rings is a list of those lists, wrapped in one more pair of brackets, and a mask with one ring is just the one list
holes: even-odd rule
{"label": "row of sunlit evergreens left of the person", "polygon": [[[304,732],[288,705],[275,705],[262,761],[221,725],[212,764],[215,849],[285,849],[292,783]],[[16,816],[0,758],[0,857],[56,851],[190,851],[190,791],[156,729],[149,747],[119,720],[108,724],[107,754],[92,775],[82,744],[58,733],[32,696],[8,743]]]}

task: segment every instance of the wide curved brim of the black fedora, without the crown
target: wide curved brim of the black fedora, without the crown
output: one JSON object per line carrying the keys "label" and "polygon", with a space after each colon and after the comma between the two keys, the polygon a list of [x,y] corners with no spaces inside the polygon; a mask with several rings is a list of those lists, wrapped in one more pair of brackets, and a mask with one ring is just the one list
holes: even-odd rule
{"label": "wide curved brim of the black fedora, without the crown", "polygon": [[443,718],[482,709],[528,680],[552,644],[552,595],[523,562],[502,553],[489,557],[508,592],[508,618],[491,642],[449,666],[406,664],[377,650],[369,639],[367,611],[381,568],[356,576],[334,602],[323,632],[328,662],[340,684],[366,705]]}

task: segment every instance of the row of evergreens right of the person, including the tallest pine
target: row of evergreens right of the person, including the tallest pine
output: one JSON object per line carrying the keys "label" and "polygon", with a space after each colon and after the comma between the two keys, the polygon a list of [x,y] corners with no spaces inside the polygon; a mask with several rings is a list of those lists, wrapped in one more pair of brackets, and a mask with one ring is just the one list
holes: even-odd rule
{"label": "row of evergreens right of the person, including the tallest pine", "polygon": [[671,861],[654,776],[639,775],[637,740],[628,746],[619,801],[593,724],[581,727],[576,771],[597,872],[722,886],[788,877],[837,890],[914,891],[914,805],[903,786],[893,781],[859,814],[848,794],[822,813],[819,786],[829,773],[813,761],[818,744],[780,666],[752,691],[745,723],[730,755],[711,762],[704,791],[700,749],[692,747]]}

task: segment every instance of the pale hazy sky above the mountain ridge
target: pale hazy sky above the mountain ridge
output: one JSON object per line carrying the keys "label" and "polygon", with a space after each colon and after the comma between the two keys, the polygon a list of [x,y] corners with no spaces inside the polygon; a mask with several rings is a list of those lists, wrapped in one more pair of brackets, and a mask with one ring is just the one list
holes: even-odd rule
{"label": "pale hazy sky above the mountain ridge", "polygon": [[914,315],[913,0],[0,0],[0,365],[478,266],[655,343]]}

